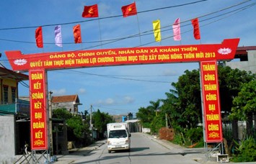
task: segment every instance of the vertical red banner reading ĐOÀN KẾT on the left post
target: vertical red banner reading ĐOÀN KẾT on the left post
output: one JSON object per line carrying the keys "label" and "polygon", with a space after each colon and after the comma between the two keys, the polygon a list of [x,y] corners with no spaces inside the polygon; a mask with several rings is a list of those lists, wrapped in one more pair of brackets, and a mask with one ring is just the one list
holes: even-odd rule
{"label": "vertical red banner reading \u0110O\u00c0N K\u1ebeT on the left post", "polygon": [[30,70],[31,150],[47,150],[45,70]]}

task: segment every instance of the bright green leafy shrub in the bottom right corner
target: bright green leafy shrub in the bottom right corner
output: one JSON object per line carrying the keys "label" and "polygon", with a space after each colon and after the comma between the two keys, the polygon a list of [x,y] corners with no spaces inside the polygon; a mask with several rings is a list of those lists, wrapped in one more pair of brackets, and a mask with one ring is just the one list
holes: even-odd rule
{"label": "bright green leafy shrub in the bottom right corner", "polygon": [[239,143],[235,142],[236,152],[233,155],[232,161],[235,163],[241,162],[255,162],[256,161],[256,141],[253,137],[247,138]]}

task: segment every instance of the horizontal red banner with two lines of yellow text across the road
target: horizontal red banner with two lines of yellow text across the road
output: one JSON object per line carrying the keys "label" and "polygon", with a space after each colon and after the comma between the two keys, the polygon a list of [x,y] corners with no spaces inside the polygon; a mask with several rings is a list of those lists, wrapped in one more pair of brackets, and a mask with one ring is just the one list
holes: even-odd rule
{"label": "horizontal red banner with two lines of yellow text across the road", "polygon": [[22,55],[20,51],[6,51],[13,70],[61,69],[97,67],[105,65],[136,65],[152,63],[181,63],[205,60],[231,60],[239,39],[227,39],[218,45],[180,45],[160,47],[131,47],[102,50]]}

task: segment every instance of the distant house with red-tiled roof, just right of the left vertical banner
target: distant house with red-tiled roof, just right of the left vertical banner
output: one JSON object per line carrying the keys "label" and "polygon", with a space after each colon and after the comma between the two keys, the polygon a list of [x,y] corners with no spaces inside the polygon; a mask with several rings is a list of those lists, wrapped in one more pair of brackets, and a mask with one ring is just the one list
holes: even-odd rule
{"label": "distant house with red-tiled roof, just right of the left vertical banner", "polygon": [[72,114],[77,114],[79,111],[79,105],[82,105],[77,94],[66,96],[52,96],[51,102],[53,110],[58,108],[66,108]]}

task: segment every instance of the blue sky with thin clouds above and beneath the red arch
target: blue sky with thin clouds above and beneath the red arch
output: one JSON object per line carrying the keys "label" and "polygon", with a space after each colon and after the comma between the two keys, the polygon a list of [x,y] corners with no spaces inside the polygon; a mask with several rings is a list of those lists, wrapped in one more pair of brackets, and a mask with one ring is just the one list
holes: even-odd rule
{"label": "blue sky with thin clouds above and beneath the red arch", "polygon": [[[239,47],[256,45],[255,1],[240,0],[139,0],[138,14],[123,17],[121,7],[128,0],[45,0],[0,2],[0,63],[11,69],[5,51],[23,54],[98,50],[119,47],[220,44],[240,38]],[[84,6],[97,4],[99,18],[84,18]],[[191,19],[198,17],[200,40],[193,37]],[[172,24],[180,18],[181,40],[173,40]],[[152,22],[161,22],[162,41],[155,42]],[[63,47],[54,44],[54,27],[61,24]],[[81,44],[74,43],[72,28],[81,25]],[[35,29],[43,27],[44,47],[35,43]],[[139,37],[131,37],[139,35]],[[122,39],[123,38],[123,39]],[[122,39],[122,40],[121,40]],[[110,40],[118,40],[111,42]],[[77,94],[79,111],[100,109],[108,114],[128,114],[149,101],[166,99],[166,93],[185,70],[198,63],[120,65],[95,68],[49,70],[48,91],[52,96]],[[27,72],[24,72],[27,74]],[[29,85],[29,81],[25,81]],[[29,88],[19,84],[19,96],[29,96]]]}

